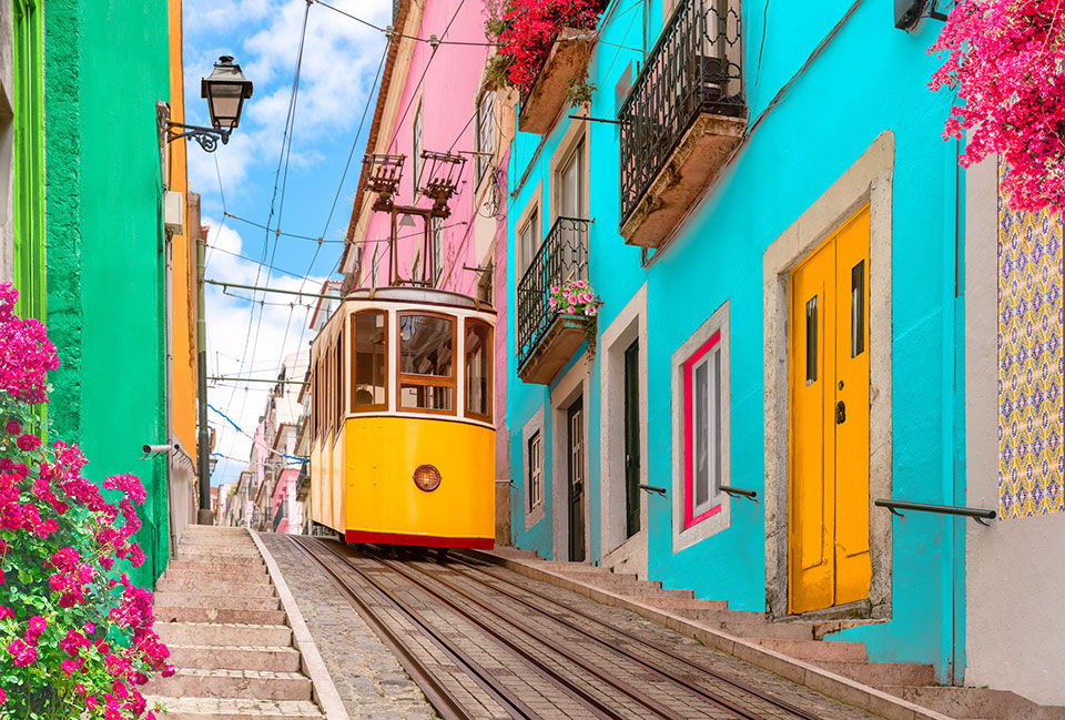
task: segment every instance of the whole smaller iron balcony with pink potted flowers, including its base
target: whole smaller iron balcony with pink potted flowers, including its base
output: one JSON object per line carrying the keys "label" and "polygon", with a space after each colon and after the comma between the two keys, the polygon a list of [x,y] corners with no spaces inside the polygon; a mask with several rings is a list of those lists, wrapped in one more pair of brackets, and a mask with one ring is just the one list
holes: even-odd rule
{"label": "whole smaller iron balcony with pink potted flowers, including its base", "polygon": [[585,339],[586,320],[550,306],[551,288],[588,278],[588,223],[559,217],[518,283],[518,377],[551,382]]}

